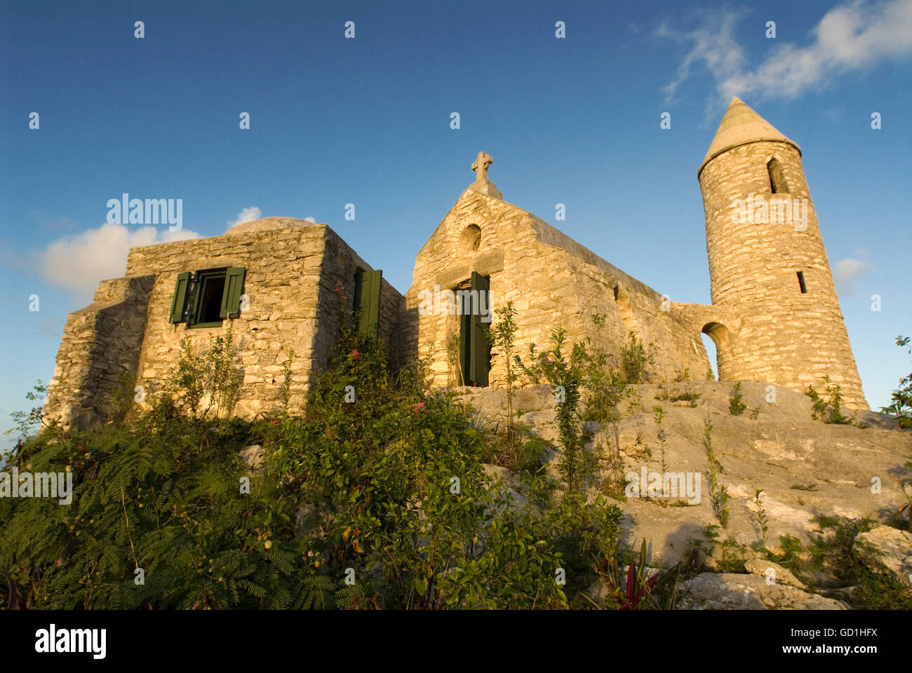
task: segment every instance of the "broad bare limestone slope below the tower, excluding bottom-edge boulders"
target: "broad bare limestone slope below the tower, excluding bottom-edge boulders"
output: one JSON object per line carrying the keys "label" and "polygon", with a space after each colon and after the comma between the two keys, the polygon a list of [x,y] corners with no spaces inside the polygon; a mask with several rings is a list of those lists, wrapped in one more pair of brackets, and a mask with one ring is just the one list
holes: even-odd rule
{"label": "broad bare limestone slope below the tower, excluding bottom-edge boulders", "polygon": [[[818,530],[812,520],[821,514],[849,519],[867,516],[886,523],[907,502],[903,486],[909,472],[902,466],[912,460],[912,432],[896,430],[892,419],[871,411],[855,413],[856,423],[864,427],[826,424],[811,417],[813,402],[806,395],[776,387],[775,401],[768,402],[768,384],[756,382],[742,382],[741,393],[750,410],[732,416],[729,396],[733,385],[733,381],[713,380],[644,384],[631,387],[633,396],[622,405],[624,418],[618,436],[625,474],[640,474],[644,467],[647,472],[662,471],[653,412],[654,406],[660,406],[668,472],[689,474],[694,485],[700,475],[700,500],[692,504],[670,493],[653,498],[636,495],[627,497],[627,502],[607,500],[625,514],[627,544],[638,548],[642,540],[647,541],[650,564],[660,560],[670,567],[683,560],[691,541],[704,540],[707,526],[719,524],[710,498],[704,444],[707,418],[721,464],[718,478],[731,495],[731,520],[727,529],[719,531],[720,540],[731,537],[744,545],[742,560],[761,555],[751,548],[761,542],[754,502],[757,489],[762,489],[768,520],[766,546],[774,552],[782,551],[779,540],[784,534],[807,544],[809,533]],[[476,409],[482,422],[503,428],[505,390],[460,389],[462,401]],[[687,393],[699,397],[671,401]],[[518,420],[531,427],[534,437],[553,443],[555,450],[548,454],[552,474],[556,474],[560,457],[554,403],[546,385],[519,389],[513,399],[513,409],[522,412]],[[614,430],[602,428],[592,440],[603,447],[614,446]],[[599,479],[606,476],[605,472]],[[880,492],[872,492],[874,478],[880,480]],[[592,494],[597,494],[595,488]],[[711,559],[708,562],[712,564]]]}

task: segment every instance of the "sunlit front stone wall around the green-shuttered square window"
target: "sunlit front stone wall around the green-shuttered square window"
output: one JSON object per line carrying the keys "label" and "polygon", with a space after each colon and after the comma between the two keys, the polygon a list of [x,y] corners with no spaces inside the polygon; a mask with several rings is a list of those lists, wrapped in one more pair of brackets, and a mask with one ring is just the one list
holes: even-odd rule
{"label": "sunlit front stone wall around the green-shuttered square window", "polygon": [[[161,389],[181,358],[184,336],[190,336],[194,352],[202,353],[212,337],[224,335],[231,326],[244,368],[236,412],[254,415],[277,406],[282,362],[291,350],[295,351],[292,403],[300,403],[314,359],[324,238],[323,229],[315,225],[132,249],[128,273],[155,277],[137,383],[148,392]],[[168,318],[177,274],[223,266],[246,269],[244,294],[249,297],[249,309],[217,327],[188,329],[183,323],[171,324]]]}

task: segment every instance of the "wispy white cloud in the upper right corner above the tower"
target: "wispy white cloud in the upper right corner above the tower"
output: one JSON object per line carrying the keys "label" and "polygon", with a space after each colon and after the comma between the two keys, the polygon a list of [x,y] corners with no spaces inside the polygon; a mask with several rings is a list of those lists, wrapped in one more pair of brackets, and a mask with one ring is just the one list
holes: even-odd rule
{"label": "wispy white cloud in the upper right corner above the tower", "polygon": [[[832,79],[852,71],[875,67],[891,59],[912,56],[912,2],[855,0],[827,12],[810,31],[805,47],[771,43],[772,54],[758,67],[744,67],[744,53],[733,37],[741,16],[728,12],[704,20],[689,33],[676,34],[668,24],[659,26],[659,37],[688,41],[692,47],[675,78],[664,89],[668,98],[689,78],[691,69],[703,64],[716,81],[719,98],[727,104],[732,96],[752,99],[796,98],[805,90],[821,88]],[[777,26],[781,31],[782,26]]]}

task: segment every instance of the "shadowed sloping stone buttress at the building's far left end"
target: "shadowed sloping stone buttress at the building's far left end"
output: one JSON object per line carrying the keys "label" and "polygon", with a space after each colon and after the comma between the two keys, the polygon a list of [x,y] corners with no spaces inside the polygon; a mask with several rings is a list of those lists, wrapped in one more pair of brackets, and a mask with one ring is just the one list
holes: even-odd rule
{"label": "shadowed sloping stone buttress at the building's far left end", "polygon": [[[107,419],[112,394],[139,366],[153,282],[150,274],[102,281],[94,302],[67,316],[47,386],[48,418],[70,430]],[[126,392],[132,396],[131,389]]]}

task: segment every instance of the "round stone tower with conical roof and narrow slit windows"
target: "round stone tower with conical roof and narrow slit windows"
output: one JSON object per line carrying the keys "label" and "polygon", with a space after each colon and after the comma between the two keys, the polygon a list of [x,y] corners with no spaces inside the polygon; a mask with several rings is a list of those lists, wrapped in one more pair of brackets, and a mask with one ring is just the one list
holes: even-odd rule
{"label": "round stone tower with conical roof and narrow slit windows", "polygon": [[823,392],[828,376],[845,406],[867,409],[801,156],[731,99],[697,172],[712,304],[731,319],[703,329],[724,345],[720,380]]}

